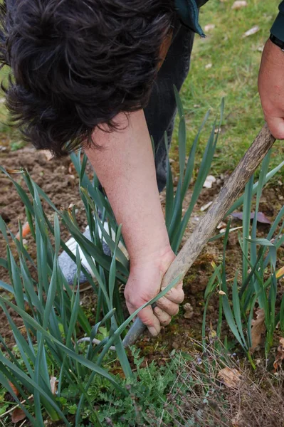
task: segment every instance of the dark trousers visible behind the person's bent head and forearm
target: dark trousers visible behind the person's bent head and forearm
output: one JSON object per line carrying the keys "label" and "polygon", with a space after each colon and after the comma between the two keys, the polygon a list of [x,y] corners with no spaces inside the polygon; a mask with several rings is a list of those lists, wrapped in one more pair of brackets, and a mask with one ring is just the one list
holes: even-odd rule
{"label": "dark trousers visible behind the person's bent head and forearm", "polygon": [[173,37],[167,58],[159,70],[152,89],[149,104],[144,110],[149,134],[154,139],[159,191],[164,189],[167,180],[167,149],[164,144],[164,132],[167,130],[170,143],[176,115],[174,85],[177,86],[177,90],[180,90],[189,73],[194,33],[177,23]]}

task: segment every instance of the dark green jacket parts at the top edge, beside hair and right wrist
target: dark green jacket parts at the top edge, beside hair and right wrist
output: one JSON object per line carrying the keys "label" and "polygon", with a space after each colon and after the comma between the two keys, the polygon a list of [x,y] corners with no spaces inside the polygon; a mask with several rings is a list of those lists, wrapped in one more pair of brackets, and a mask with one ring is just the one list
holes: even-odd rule
{"label": "dark green jacket parts at the top edge, beside hair and right wrist", "polygon": [[[177,12],[181,21],[191,30],[204,37],[204,32],[198,21],[198,9],[209,0],[175,0]],[[284,0],[279,5],[279,14],[270,30],[273,36],[284,41]]]}

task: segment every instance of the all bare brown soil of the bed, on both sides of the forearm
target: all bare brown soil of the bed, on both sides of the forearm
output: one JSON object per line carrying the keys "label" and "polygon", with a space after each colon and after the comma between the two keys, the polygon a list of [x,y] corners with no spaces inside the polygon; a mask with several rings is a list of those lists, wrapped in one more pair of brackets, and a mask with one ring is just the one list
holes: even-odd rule
{"label": "all bare brown soil of the bed, on both sides of the forearm", "polygon": [[[73,164],[70,162],[69,157],[48,160],[45,152],[36,152],[36,150],[31,147],[24,147],[16,152],[11,152],[8,144],[4,147],[4,151],[0,151],[1,166],[6,169],[27,169],[31,174],[32,179],[41,186],[46,194],[48,194],[58,209],[67,209],[70,204],[75,204],[78,208],[77,220],[79,225],[83,228],[86,224],[86,218],[78,191],[78,176],[74,171]],[[174,160],[172,161],[172,168],[173,170],[177,168],[177,162]],[[88,166],[88,173],[91,175],[90,166]],[[14,179],[16,179],[16,181],[21,185],[23,184],[21,174],[14,175]],[[202,191],[199,201],[196,204],[196,208],[194,209],[194,215],[186,230],[184,240],[189,236],[189,233],[191,233],[200,217],[204,215],[204,213],[200,211],[201,206],[208,204],[209,201],[214,199],[214,196],[216,196],[221,189],[225,179],[226,176],[217,177],[216,183],[213,185],[212,189],[204,189]],[[189,204],[190,196],[191,192],[189,189],[189,192],[186,195],[184,209],[186,209],[186,205]],[[266,188],[261,199],[260,211],[262,211],[269,219],[273,220],[282,207],[283,199],[284,186],[282,183],[279,183],[279,186],[273,188]],[[164,194],[161,194],[161,201],[163,205]],[[52,216],[52,210],[48,206],[44,207],[46,208],[46,214]],[[18,231],[19,220],[22,223],[26,221],[23,204],[19,200],[16,189],[3,174],[0,175],[0,214],[13,233]],[[241,223],[238,220],[233,220],[232,226],[240,225]],[[265,233],[268,231],[268,227],[269,226],[267,224],[258,223],[258,231],[260,235],[265,236]],[[68,237],[70,237],[65,229],[62,229],[62,237],[64,240],[67,240]],[[35,246],[33,238],[27,237],[26,239],[28,251],[34,258]],[[191,305],[193,313],[192,317],[190,319],[185,318],[185,311],[182,308],[172,324],[165,328],[158,338],[152,339],[145,335],[140,339],[140,342],[137,343],[137,346],[143,349],[143,354],[147,361],[156,359],[160,364],[163,364],[167,357],[169,357],[169,352],[172,352],[173,349],[189,350],[192,346],[192,340],[189,339],[190,337],[193,337],[194,339],[201,339],[204,290],[209,277],[212,274],[211,261],[218,264],[222,250],[223,241],[221,239],[209,243],[196,260],[189,273],[186,275],[184,280],[184,292],[186,296],[182,306],[184,307],[184,304],[186,303]],[[279,268],[282,266],[280,263],[281,258],[283,257],[283,250],[280,250],[280,252],[282,253],[278,254]],[[228,239],[228,251],[226,254],[228,271],[231,271],[231,278],[233,278],[236,273],[236,268],[238,268],[238,265],[240,265],[241,262],[237,233],[230,234]],[[6,258],[6,244],[1,234],[0,257]],[[10,281],[6,270],[1,267],[0,278],[6,283],[9,283]],[[92,291],[89,290],[84,292],[81,295],[81,298],[83,306],[86,307],[86,310],[90,312],[90,316],[92,317],[92,308],[94,305]],[[216,327],[216,319],[218,316],[216,314],[217,306],[218,298],[216,298],[216,300],[213,299],[208,307],[209,324],[211,322],[210,327],[213,329]],[[21,320],[19,320],[12,312],[11,315],[14,317],[16,325],[21,326]],[[7,325],[4,313],[0,313],[0,333],[9,342],[9,339],[11,339],[11,331],[9,330],[9,325]]]}

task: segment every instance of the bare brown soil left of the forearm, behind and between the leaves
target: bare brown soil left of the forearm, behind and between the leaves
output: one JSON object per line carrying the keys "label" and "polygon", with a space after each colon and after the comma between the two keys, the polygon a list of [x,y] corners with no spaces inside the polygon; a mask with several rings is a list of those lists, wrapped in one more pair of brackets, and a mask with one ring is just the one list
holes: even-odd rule
{"label": "bare brown soil left of the forearm, behind and between the leaves", "polygon": [[[27,169],[29,174],[36,183],[41,186],[43,191],[51,198],[58,209],[67,209],[70,204],[78,206],[78,224],[85,225],[85,216],[83,214],[82,202],[80,201],[78,191],[78,176],[74,173],[73,164],[69,157],[57,160],[48,161],[45,152],[38,152],[31,147],[24,147],[16,152],[9,149],[9,145],[4,146],[6,149],[0,152],[0,164],[5,169]],[[14,174],[14,179],[25,188],[21,174]],[[48,216],[53,216],[51,208],[47,204],[43,204]],[[26,214],[23,203],[16,192],[14,185],[9,179],[0,174],[0,215],[11,229],[11,232],[16,234],[19,230],[18,221],[26,222]],[[62,228],[61,235],[63,240],[67,240],[70,236],[68,232]],[[31,236],[26,237],[28,244],[28,252],[33,259],[36,259],[36,246]],[[0,233],[0,258],[6,258],[6,243]],[[32,273],[32,272],[31,272]],[[0,267],[0,279],[5,283],[10,283],[9,274],[4,268]],[[11,310],[9,310],[11,312]],[[17,326],[21,326],[22,322],[11,312]],[[11,330],[6,322],[6,316],[0,312],[0,334],[8,339],[12,336]]]}

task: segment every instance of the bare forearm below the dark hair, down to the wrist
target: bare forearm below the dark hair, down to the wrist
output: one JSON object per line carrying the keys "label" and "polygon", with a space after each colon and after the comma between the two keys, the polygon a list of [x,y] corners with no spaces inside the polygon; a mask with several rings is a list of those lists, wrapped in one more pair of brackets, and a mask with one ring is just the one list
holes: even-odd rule
{"label": "bare forearm below the dark hair, down to the wrist", "polygon": [[104,187],[132,265],[169,251],[169,238],[159,201],[152,144],[142,110],[118,117],[122,130],[95,130],[102,149],[86,154]]}

